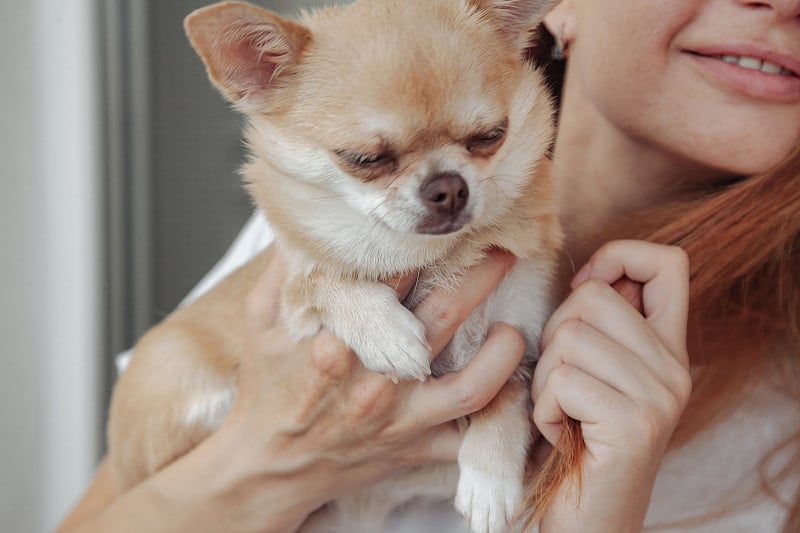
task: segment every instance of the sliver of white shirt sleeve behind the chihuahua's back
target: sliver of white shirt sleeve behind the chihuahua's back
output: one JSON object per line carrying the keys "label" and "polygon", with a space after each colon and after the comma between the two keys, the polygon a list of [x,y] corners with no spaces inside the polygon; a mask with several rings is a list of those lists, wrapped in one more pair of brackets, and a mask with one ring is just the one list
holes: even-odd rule
{"label": "sliver of white shirt sleeve behind the chihuahua's back", "polygon": [[[275,234],[263,213],[256,211],[234,239],[225,255],[203,276],[180,305],[186,305],[222,281],[228,274],[258,255],[275,240]],[[117,374],[121,374],[130,362],[133,350],[127,350],[114,358]]]}

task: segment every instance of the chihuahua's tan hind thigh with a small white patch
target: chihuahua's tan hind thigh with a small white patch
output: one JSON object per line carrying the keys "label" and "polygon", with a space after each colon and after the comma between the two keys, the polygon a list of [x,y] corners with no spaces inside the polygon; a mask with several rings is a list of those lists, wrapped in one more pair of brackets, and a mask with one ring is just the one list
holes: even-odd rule
{"label": "chihuahua's tan hind thigh with a small white patch", "polygon": [[234,374],[209,366],[207,349],[201,337],[172,324],[137,345],[110,407],[108,455],[119,488],[162,469],[225,420]]}

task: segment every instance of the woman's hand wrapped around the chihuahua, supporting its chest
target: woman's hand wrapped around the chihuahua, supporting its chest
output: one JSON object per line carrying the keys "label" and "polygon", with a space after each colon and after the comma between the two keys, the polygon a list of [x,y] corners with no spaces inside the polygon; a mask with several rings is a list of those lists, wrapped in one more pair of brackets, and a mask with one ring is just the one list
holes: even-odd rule
{"label": "woman's hand wrapped around the chihuahua, supporting its chest", "polygon": [[[418,306],[434,355],[512,264],[494,252],[467,272],[456,297],[433,293]],[[272,326],[281,268],[273,259],[250,296],[238,396],[204,443],[222,450],[217,467],[206,468],[222,500],[247,510],[229,513],[237,522],[228,531],[293,530],[341,494],[405,468],[454,461],[461,437],[451,421],[484,407],[523,353],[518,332],[500,325],[461,372],[394,384],[364,369],[329,332],[298,343]]]}

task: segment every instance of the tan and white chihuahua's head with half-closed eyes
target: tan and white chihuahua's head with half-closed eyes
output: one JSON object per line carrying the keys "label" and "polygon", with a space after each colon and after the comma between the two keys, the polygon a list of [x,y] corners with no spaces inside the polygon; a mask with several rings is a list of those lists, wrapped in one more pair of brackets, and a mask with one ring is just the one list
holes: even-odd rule
{"label": "tan and white chihuahua's head with half-closed eyes", "polygon": [[548,149],[523,54],[555,3],[360,0],[294,22],[229,2],[186,29],[250,117],[245,174],[273,224],[447,237],[508,210]]}

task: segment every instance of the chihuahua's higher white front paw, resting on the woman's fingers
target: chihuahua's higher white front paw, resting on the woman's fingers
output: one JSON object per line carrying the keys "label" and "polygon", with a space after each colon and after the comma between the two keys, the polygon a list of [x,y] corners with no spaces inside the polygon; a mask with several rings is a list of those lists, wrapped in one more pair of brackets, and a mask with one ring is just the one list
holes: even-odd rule
{"label": "chihuahua's higher white front paw, resting on the woman's fingers", "polygon": [[351,348],[364,366],[393,381],[424,381],[431,375],[431,347],[425,338],[425,327],[408,310],[400,311],[386,318],[373,317],[371,324],[362,324],[368,334],[357,337]]}

